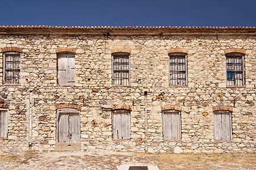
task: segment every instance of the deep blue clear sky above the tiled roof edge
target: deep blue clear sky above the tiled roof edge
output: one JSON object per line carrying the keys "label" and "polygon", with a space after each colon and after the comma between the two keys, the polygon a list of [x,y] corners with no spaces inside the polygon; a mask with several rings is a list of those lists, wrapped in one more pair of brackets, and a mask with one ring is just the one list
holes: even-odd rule
{"label": "deep blue clear sky above the tiled roof edge", "polygon": [[256,27],[256,0],[6,0],[0,25]]}

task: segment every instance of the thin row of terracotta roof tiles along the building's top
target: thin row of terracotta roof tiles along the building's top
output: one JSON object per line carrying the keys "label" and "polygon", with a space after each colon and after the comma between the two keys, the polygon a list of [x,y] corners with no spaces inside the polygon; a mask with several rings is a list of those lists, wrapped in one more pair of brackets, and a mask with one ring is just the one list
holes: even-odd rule
{"label": "thin row of terracotta roof tiles along the building's top", "polygon": [[48,26],[48,25],[39,25],[39,26],[27,26],[27,25],[16,25],[16,26],[0,26],[0,29],[183,29],[183,30],[256,30],[256,27],[110,27],[110,26],[101,26],[101,27],[80,27],[80,26]]}

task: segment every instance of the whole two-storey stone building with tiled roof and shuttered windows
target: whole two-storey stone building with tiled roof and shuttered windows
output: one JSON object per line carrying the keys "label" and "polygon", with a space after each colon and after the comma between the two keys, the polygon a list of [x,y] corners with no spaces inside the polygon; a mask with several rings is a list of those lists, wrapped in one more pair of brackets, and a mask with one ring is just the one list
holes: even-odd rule
{"label": "whole two-storey stone building with tiled roof and shuttered windows", "polygon": [[255,27],[0,27],[0,148],[254,152]]}

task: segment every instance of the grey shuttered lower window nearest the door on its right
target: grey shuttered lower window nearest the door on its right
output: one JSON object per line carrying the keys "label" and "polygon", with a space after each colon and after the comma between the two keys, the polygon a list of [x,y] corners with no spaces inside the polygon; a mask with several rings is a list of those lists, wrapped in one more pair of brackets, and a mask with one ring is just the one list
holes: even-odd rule
{"label": "grey shuttered lower window nearest the door on its right", "polygon": [[131,139],[131,121],[129,111],[112,111],[112,133],[113,139]]}

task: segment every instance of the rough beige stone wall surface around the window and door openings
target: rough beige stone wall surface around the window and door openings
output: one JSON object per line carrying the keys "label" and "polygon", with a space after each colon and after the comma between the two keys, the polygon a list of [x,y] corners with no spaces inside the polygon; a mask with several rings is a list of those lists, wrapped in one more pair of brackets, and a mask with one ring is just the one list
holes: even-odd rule
{"label": "rough beige stone wall surface around the window and door openings", "polygon": [[[0,54],[0,99],[9,105],[8,138],[0,139],[1,150],[53,150],[56,109],[73,104],[81,109],[85,151],[255,151],[255,36],[123,34],[0,35],[1,49],[22,49],[17,86],[3,84]],[[75,53],[75,86],[57,83],[60,49]],[[168,53],[177,49],[187,52],[187,87],[169,86]],[[228,49],[245,50],[245,87],[226,87]],[[131,53],[131,86],[112,86],[113,52]],[[112,139],[111,111],[116,105],[131,109],[131,139]],[[232,108],[232,141],[213,139],[214,107]],[[181,140],[163,140],[163,108],[181,111]]]}

